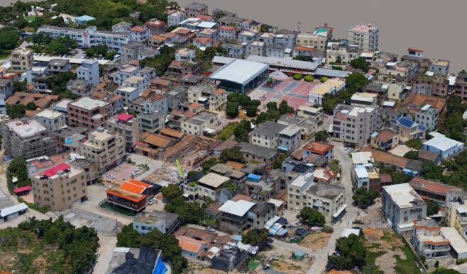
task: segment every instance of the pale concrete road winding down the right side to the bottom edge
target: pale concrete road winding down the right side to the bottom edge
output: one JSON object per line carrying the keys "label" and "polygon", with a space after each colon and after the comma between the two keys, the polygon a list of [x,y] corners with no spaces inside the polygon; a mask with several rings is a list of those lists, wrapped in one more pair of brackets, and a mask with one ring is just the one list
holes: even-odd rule
{"label": "pale concrete road winding down the right side to the bottom edge", "polygon": [[327,257],[329,254],[333,253],[336,249],[336,239],[339,239],[344,229],[349,227],[353,219],[355,219],[358,208],[352,205],[352,181],[351,181],[351,168],[352,168],[352,160],[351,158],[344,152],[344,146],[342,143],[333,142],[334,144],[334,157],[339,159],[341,164],[341,185],[346,188],[346,213],[341,218],[341,224],[335,224],[332,227],[334,228],[334,232],[331,234],[329,238],[328,244],[324,247],[324,249],[316,250],[312,253],[315,258],[315,261],[311,268],[309,268],[307,273],[323,273],[326,264],[327,264]]}

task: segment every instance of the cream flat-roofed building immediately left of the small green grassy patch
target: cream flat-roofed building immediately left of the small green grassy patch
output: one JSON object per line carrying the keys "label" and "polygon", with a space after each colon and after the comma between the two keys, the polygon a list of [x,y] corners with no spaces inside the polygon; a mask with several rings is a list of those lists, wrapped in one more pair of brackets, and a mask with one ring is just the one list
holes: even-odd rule
{"label": "cream flat-roofed building immediately left of the small green grassy patch", "polygon": [[182,132],[189,135],[203,136],[213,133],[219,127],[219,115],[203,110],[192,118],[182,122]]}

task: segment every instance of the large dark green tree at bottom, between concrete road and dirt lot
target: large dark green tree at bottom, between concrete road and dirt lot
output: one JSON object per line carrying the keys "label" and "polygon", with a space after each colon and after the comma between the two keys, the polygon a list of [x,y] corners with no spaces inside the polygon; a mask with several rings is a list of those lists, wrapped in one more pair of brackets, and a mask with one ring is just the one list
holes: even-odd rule
{"label": "large dark green tree at bottom, between concrete road and dirt lot", "polygon": [[366,247],[363,240],[355,234],[337,239],[336,251],[339,251],[340,256],[329,256],[329,263],[333,268],[353,270],[355,267],[365,266]]}

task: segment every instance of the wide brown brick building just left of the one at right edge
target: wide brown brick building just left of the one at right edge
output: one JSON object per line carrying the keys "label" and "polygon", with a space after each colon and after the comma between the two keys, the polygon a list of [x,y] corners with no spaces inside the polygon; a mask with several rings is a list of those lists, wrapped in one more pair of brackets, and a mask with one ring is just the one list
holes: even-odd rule
{"label": "wide brown brick building just left of the one at right edge", "polygon": [[407,84],[412,86],[412,93],[428,96],[447,96],[449,93],[449,79],[440,74],[417,74]]}

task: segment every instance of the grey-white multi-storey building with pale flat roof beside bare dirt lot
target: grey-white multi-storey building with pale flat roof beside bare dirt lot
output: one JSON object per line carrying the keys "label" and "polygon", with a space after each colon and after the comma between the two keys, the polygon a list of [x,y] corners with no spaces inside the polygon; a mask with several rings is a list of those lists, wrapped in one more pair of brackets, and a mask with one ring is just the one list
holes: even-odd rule
{"label": "grey-white multi-storey building with pale flat roof beside bare dirt lot", "polygon": [[414,228],[427,217],[427,204],[408,183],[383,186],[383,214],[398,234]]}

